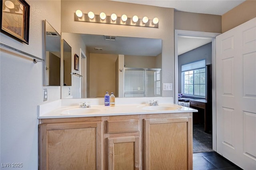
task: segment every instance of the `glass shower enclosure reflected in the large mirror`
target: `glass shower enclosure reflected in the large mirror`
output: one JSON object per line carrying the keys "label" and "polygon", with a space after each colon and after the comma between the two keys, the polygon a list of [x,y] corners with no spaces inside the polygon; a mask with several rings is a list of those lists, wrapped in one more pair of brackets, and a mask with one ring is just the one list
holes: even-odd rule
{"label": "glass shower enclosure reflected in the large mirror", "polygon": [[124,97],[162,96],[160,68],[124,68]]}

